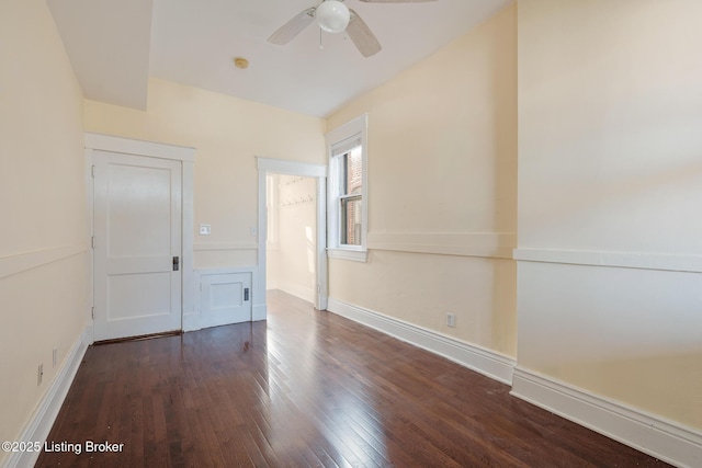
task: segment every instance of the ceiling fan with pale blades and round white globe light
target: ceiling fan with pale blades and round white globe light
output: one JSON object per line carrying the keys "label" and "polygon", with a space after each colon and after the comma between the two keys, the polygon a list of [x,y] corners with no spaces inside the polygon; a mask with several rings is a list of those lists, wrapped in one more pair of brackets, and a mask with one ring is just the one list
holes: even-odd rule
{"label": "ceiling fan with pale blades and round white globe light", "polygon": [[[381,43],[359,16],[359,13],[343,4],[344,0],[322,0],[317,7],[312,7],[301,11],[280,30],[274,32],[268,42],[271,44],[285,45],[297,34],[302,33],[314,20],[322,31],[327,33],[346,33],[363,55],[370,57],[381,52]],[[437,0],[360,0],[364,3],[420,3]]]}

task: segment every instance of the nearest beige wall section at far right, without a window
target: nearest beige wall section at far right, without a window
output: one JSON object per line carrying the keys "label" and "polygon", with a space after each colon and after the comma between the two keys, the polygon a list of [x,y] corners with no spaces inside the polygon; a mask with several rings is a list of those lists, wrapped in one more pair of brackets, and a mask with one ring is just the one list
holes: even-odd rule
{"label": "nearest beige wall section at far right, without a window", "polygon": [[519,264],[519,365],[697,429],[700,18],[522,0],[518,19],[519,250],[565,262]]}

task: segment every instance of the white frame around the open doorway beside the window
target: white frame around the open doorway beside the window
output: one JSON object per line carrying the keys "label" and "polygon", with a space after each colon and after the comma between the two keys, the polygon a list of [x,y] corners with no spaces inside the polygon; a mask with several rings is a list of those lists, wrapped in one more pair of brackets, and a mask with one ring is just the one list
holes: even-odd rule
{"label": "white frame around the open doorway beside the window", "polygon": [[267,239],[268,214],[265,208],[265,178],[268,174],[285,174],[317,180],[317,248],[315,252],[316,290],[315,308],[327,309],[329,286],[327,279],[327,165],[310,162],[286,161],[257,157],[259,171],[258,195],[258,271],[253,281],[252,320],[265,320],[268,307],[265,303]]}

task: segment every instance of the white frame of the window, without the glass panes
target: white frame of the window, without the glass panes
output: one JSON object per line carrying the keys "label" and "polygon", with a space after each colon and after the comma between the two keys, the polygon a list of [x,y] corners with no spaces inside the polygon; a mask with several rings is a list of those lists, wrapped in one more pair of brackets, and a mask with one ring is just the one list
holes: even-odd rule
{"label": "white frame of the window, without the glass panes", "polygon": [[[341,162],[346,152],[335,156],[335,150],[348,146],[354,140],[361,141],[362,161],[362,189],[361,189],[361,244],[341,243]],[[367,225],[369,225],[369,184],[367,184],[367,114],[363,114],[326,135],[327,157],[329,160],[328,186],[327,186],[327,256],[332,259],[352,260],[356,262],[367,261]],[[358,195],[354,195],[358,196]]]}

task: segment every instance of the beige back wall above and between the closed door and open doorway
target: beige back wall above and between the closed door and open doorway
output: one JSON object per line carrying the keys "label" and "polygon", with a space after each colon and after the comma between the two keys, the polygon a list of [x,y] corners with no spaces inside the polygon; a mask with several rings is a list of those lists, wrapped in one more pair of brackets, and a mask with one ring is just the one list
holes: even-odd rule
{"label": "beige back wall above and between the closed door and open doorway", "polygon": [[[151,78],[147,110],[86,101],[86,129],[194,147],[195,267],[256,265],[256,157],[324,163],[324,121]],[[213,250],[216,249],[216,250]]]}

